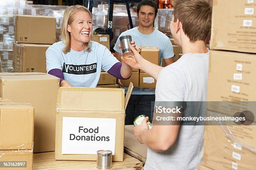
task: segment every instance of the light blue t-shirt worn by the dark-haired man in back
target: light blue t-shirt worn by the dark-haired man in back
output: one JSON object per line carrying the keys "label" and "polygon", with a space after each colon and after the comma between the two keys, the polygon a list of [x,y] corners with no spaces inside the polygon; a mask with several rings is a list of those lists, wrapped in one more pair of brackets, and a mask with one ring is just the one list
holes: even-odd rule
{"label": "light blue t-shirt worn by the dark-haired man in back", "polygon": [[[167,59],[174,57],[172,42],[169,40],[169,38],[164,35],[159,30],[154,30],[149,35],[142,34],[139,32],[138,27],[132,28],[131,30],[127,30],[125,32],[122,32],[118,40],[116,41],[114,50],[116,52],[120,52],[120,49],[118,48],[118,45],[120,44],[119,38],[123,35],[131,35],[132,40],[135,41],[136,45],[140,46],[149,46],[149,47],[159,47],[159,65],[161,65],[162,58]],[[125,87],[125,92],[127,91],[128,87]],[[141,87],[134,87],[133,88],[133,95],[154,95],[155,94],[155,88],[141,88]]]}

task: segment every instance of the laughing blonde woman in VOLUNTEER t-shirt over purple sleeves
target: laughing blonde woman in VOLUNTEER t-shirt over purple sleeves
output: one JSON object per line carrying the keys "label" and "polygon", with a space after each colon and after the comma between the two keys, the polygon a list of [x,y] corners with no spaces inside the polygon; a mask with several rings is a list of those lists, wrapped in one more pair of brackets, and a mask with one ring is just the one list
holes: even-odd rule
{"label": "laughing blonde woman in VOLUNTEER t-shirt over purple sleeves", "polygon": [[[128,79],[132,68],[121,64],[103,45],[90,41],[92,14],[81,5],[65,10],[61,40],[46,51],[47,73],[64,87],[96,87],[101,69],[118,79]],[[133,45],[134,42],[133,42]]]}

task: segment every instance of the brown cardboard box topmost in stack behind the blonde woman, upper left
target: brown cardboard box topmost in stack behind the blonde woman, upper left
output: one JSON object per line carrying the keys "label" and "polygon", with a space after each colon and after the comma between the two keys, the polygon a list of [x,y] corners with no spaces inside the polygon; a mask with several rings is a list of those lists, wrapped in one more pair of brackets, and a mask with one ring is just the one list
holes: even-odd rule
{"label": "brown cardboard box topmost in stack behind the blonde woman, upper left", "polygon": [[48,16],[17,15],[15,42],[53,44],[56,42],[56,18]]}

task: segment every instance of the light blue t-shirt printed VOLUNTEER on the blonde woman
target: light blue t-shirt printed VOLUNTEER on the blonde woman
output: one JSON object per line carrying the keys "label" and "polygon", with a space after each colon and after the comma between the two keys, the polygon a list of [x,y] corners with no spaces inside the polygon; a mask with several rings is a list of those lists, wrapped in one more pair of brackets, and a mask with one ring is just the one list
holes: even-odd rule
{"label": "light blue t-shirt printed VOLUNTEER on the blonde woman", "polygon": [[96,87],[101,69],[108,71],[119,62],[107,47],[98,42],[90,41],[91,50],[70,50],[62,52],[64,43],[56,42],[46,50],[46,70],[60,69],[64,80],[73,87]]}

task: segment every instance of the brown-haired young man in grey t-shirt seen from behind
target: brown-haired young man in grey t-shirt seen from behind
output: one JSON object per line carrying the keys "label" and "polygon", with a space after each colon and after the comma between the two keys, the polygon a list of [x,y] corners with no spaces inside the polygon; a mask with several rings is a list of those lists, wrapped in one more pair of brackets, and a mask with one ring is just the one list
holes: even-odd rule
{"label": "brown-haired young man in grey t-shirt seen from behind", "polygon": [[[170,28],[183,55],[171,65],[154,65],[134,48],[134,57],[122,57],[131,67],[157,79],[156,101],[206,101],[209,52],[205,39],[211,14],[208,0],[177,0]],[[148,146],[144,169],[196,170],[203,156],[204,126],[154,125],[153,121],[148,130],[147,120],[134,128],[136,139]]]}

